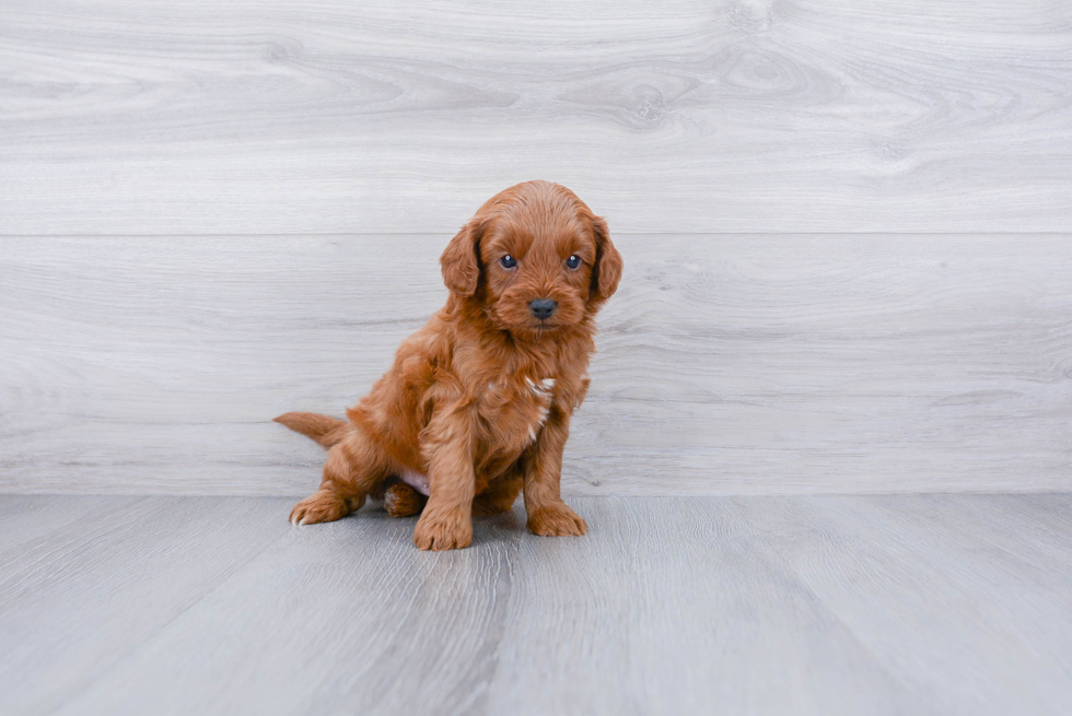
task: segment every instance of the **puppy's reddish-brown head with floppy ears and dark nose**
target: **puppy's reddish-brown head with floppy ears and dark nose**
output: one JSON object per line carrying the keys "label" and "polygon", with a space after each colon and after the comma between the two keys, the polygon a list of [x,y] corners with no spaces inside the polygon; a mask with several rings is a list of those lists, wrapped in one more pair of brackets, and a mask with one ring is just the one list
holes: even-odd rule
{"label": "puppy's reddish-brown head with floppy ears and dark nose", "polygon": [[440,263],[446,286],[479,301],[497,328],[536,340],[594,314],[621,277],[606,222],[549,181],[518,184],[489,199]]}

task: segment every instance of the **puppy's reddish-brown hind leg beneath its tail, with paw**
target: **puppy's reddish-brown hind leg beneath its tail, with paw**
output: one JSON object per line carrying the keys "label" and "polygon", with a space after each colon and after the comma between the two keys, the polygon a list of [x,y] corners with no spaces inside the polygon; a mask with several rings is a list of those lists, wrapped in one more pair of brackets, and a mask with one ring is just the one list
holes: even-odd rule
{"label": "puppy's reddish-brown hind leg beneath its tail, with paw", "polygon": [[328,450],[321,488],[294,505],[290,521],[316,525],[341,519],[360,509],[385,477],[384,456],[371,441],[354,431]]}

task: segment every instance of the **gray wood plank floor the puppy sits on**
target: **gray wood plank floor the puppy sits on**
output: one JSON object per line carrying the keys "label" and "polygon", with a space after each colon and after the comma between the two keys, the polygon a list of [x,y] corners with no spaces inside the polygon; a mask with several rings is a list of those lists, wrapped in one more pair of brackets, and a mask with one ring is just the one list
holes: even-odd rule
{"label": "gray wood plank floor the puppy sits on", "polygon": [[0,497],[0,713],[1068,713],[1072,495],[572,502],[586,538],[429,554],[369,509]]}

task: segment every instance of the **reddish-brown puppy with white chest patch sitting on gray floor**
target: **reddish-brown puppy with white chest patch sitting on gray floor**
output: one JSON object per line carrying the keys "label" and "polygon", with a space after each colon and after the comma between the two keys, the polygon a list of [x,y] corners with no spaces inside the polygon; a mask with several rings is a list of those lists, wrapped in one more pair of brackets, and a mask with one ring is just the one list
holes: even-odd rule
{"label": "reddish-brown puppy with white chest patch sitting on gray floor", "polygon": [[505,512],[524,491],[532,532],[584,535],[559,480],[594,318],[621,277],[606,222],[566,187],[526,181],[480,207],[440,265],[446,305],[348,422],[276,419],[330,448],[291,521],[331,521],[382,497],[392,515],[421,513],[417,547],[450,550],[473,542],[473,514]]}

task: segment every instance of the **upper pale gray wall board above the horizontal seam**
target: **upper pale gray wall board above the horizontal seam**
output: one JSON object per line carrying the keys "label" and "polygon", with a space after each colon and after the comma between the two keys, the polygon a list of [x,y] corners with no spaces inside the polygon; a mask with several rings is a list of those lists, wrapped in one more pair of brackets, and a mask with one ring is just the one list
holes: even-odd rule
{"label": "upper pale gray wall board above the horizontal seam", "polygon": [[11,0],[0,233],[1067,232],[1053,0]]}

